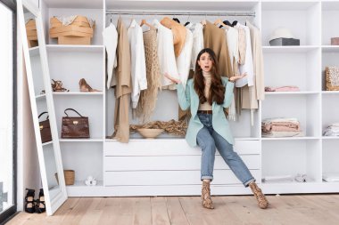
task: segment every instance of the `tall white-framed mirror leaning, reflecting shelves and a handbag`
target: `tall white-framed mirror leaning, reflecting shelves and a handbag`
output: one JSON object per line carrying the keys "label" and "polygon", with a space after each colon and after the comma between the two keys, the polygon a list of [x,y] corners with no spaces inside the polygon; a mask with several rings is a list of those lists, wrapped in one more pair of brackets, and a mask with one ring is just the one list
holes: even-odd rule
{"label": "tall white-framed mirror leaning, reflecting shelves and a handbag", "polygon": [[[18,14],[36,134],[37,155],[45,194],[45,208],[47,214],[51,215],[67,199],[67,194],[55,121],[44,30],[41,13],[36,6],[27,2],[22,4],[19,0]],[[37,190],[36,193],[38,193]]]}

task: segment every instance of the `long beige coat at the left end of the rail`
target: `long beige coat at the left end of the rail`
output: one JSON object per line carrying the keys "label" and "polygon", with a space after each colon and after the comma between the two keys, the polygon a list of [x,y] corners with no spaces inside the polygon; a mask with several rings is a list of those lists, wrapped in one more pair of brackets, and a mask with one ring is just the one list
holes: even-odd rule
{"label": "long beige coat at the left end of the rail", "polygon": [[115,68],[117,84],[115,85],[115,109],[114,109],[114,134],[113,137],[120,142],[128,142],[129,120],[128,108],[131,83],[131,63],[128,43],[128,31],[122,20],[118,20],[118,66]]}

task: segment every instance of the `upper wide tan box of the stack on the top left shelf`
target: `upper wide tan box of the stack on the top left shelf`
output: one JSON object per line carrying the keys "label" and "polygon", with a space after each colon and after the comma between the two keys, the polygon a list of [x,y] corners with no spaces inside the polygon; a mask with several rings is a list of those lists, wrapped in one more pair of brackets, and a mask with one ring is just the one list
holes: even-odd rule
{"label": "upper wide tan box of the stack on the top left shelf", "polygon": [[83,28],[74,25],[50,28],[49,36],[57,38],[59,36],[87,36],[93,37],[93,28]]}

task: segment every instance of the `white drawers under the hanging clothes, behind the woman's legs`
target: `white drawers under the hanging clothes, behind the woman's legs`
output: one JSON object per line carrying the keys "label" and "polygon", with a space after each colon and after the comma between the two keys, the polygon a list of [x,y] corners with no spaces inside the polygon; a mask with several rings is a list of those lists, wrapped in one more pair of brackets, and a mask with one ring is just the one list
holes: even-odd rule
{"label": "white drawers under the hanging clothes, behind the woman's legs", "polygon": [[[236,141],[234,149],[256,180],[260,181],[260,141]],[[183,139],[132,140],[128,144],[106,141],[103,155],[105,187],[201,184],[202,151],[200,148],[190,148]],[[214,185],[238,185],[243,189],[218,150],[213,175]]]}

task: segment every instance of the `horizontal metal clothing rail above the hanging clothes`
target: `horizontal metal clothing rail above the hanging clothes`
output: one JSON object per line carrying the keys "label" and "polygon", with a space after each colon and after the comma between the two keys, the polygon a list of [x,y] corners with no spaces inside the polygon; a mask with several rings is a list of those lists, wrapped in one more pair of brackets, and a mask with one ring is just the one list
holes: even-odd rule
{"label": "horizontal metal clothing rail above the hanging clothes", "polygon": [[107,11],[106,15],[174,15],[174,16],[246,16],[255,17],[255,12],[136,12]]}

